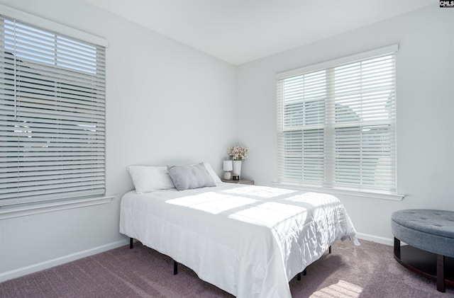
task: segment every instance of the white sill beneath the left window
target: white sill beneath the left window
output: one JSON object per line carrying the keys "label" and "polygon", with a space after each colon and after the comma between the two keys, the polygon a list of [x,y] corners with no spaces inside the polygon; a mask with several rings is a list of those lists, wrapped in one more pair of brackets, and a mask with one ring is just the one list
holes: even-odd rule
{"label": "white sill beneath the left window", "polygon": [[114,199],[113,195],[105,197],[89,197],[84,199],[62,200],[44,202],[40,204],[11,205],[0,208],[0,220],[13,217],[23,217],[27,215],[55,212],[79,207],[107,204]]}

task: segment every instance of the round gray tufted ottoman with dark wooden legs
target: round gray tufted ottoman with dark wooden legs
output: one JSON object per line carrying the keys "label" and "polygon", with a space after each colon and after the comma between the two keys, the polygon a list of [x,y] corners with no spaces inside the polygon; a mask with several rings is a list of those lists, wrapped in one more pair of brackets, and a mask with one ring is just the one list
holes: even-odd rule
{"label": "round gray tufted ottoman with dark wooden legs", "polygon": [[[445,284],[454,285],[454,212],[401,210],[391,218],[394,258],[404,267],[436,279],[440,292],[445,292]],[[409,244],[408,248],[401,248],[400,241]]]}

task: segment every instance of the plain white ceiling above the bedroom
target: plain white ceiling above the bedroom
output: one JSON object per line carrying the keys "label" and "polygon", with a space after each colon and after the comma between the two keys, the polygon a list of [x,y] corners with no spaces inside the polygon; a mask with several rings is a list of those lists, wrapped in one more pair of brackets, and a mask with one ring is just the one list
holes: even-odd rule
{"label": "plain white ceiling above the bedroom", "polygon": [[436,0],[84,0],[231,64],[328,38]]}

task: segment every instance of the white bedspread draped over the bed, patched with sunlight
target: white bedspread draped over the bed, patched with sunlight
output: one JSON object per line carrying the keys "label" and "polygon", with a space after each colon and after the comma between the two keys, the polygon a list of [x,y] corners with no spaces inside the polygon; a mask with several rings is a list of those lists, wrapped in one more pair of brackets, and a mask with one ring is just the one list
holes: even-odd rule
{"label": "white bedspread draped over the bed, patched with sunlight", "polygon": [[120,232],[244,298],[291,297],[289,280],[331,243],[357,243],[332,195],[233,183],[126,193]]}

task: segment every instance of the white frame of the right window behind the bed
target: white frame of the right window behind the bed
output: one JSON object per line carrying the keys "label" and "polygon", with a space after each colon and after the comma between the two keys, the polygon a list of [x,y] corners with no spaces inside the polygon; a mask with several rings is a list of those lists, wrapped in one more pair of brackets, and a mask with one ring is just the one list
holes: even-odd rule
{"label": "white frame of the right window behind the bed", "polygon": [[[295,181],[292,181],[292,179],[290,178],[284,178],[284,175],[289,175],[289,173],[285,174],[284,173],[284,121],[286,121],[286,118],[284,117],[284,100],[283,100],[283,94],[282,94],[282,84],[283,84],[283,81],[284,79],[295,79],[297,78],[298,76],[304,76],[304,74],[314,74],[316,73],[317,71],[328,71],[329,69],[334,69],[336,67],[340,67],[341,65],[345,65],[345,64],[353,64],[354,62],[361,62],[361,61],[365,61],[367,59],[372,59],[374,57],[380,57],[380,56],[384,56],[384,55],[394,55],[395,57],[395,54],[398,50],[398,45],[395,44],[395,45],[389,45],[387,47],[381,47],[381,48],[378,48],[378,49],[375,49],[375,50],[370,50],[370,51],[367,51],[367,52],[362,52],[362,53],[359,53],[359,54],[355,54],[355,55],[350,55],[350,56],[347,56],[347,57],[342,57],[342,58],[339,58],[339,59],[333,59],[333,60],[330,60],[330,61],[327,61],[327,62],[322,62],[322,63],[319,63],[319,64],[314,64],[314,65],[310,65],[308,67],[302,67],[302,68],[299,68],[299,69],[293,69],[293,70],[290,70],[290,71],[284,71],[284,72],[281,72],[281,73],[278,73],[276,75],[276,86],[277,86],[277,145],[278,145],[278,150],[277,150],[277,162],[278,162],[278,174],[277,174],[277,177],[278,177],[278,180],[276,183],[273,183],[274,185],[277,185],[277,186],[285,186],[285,187],[288,187],[288,188],[297,188],[297,189],[304,189],[304,190],[315,190],[315,191],[323,191],[323,192],[326,192],[326,193],[334,193],[334,194],[344,194],[344,195],[355,195],[355,196],[362,196],[362,197],[377,197],[377,198],[380,198],[380,199],[389,199],[389,200],[402,200],[402,198],[404,197],[404,195],[400,195],[399,193],[397,193],[397,159],[394,159],[394,183],[395,183],[395,191],[394,190],[374,190],[374,189],[367,189],[367,188],[361,188],[361,187],[358,187],[358,188],[355,188],[355,187],[340,187],[339,185],[336,185],[336,183],[334,183],[334,178],[333,178],[333,171],[334,171],[334,168],[335,168],[335,161],[334,161],[334,144],[333,142],[335,142],[335,137],[332,136],[332,137],[323,137],[323,145],[325,148],[323,148],[323,164],[327,164],[327,160],[328,160],[328,163],[331,164],[331,167],[328,166],[328,168],[326,168],[325,166],[325,169],[327,170],[326,172],[324,172],[324,176],[323,176],[323,183],[320,183],[317,184],[317,183],[308,183],[307,180],[303,180],[304,179],[304,176],[301,176],[301,180],[299,182],[295,182]],[[394,71],[395,71],[395,64],[394,64]],[[332,72],[331,72],[332,73]],[[395,74],[395,72],[394,72]],[[325,78],[326,79],[326,78]],[[326,79],[328,80],[328,79]],[[394,84],[395,84],[395,76],[394,76]],[[331,95],[333,94],[333,92],[331,92]],[[395,85],[394,85],[394,95],[395,95]],[[332,106],[331,109],[330,108],[326,108],[327,105],[334,105],[335,101],[332,100],[328,100],[328,99],[323,99],[323,103],[324,103],[324,112],[325,113],[325,118],[322,120],[323,123],[321,125],[312,125],[312,127],[314,128],[323,128],[323,130],[329,130],[331,131],[331,133],[333,133],[336,129],[336,127],[342,127],[343,126],[343,123],[342,122],[337,122],[336,121],[331,121],[331,122],[328,122],[328,118],[335,118],[336,116],[335,115],[327,115],[327,112],[326,110],[331,110],[331,112],[329,113],[332,113],[333,114],[333,111],[335,110],[335,108]],[[394,104],[395,104],[395,101],[394,101]],[[288,105],[288,103],[287,103]],[[301,108],[301,110],[303,110],[303,108]],[[301,113],[304,113],[304,112],[301,112]],[[395,125],[396,125],[396,120],[395,120],[395,113],[396,113],[396,110],[395,110],[395,105],[394,105],[394,132],[393,132],[393,137],[394,137],[394,140],[392,140],[392,144],[394,144],[394,158],[396,156],[396,151],[397,151],[397,147],[396,147],[396,142],[395,142],[395,137],[397,135],[397,132],[395,131]],[[301,118],[303,120],[300,120],[300,121],[306,121],[306,118]],[[331,119],[332,120],[332,119]],[[310,127],[310,125],[308,125]],[[302,126],[304,127],[304,125]],[[302,133],[303,130],[301,130],[301,133]],[[324,132],[324,131],[323,131]],[[299,142],[299,141],[297,141]],[[302,139],[301,139],[301,142]],[[307,144],[307,143],[301,143],[301,146],[303,146],[302,144]],[[301,150],[304,150],[304,147],[301,147],[303,149]],[[302,156],[302,152],[301,151],[301,156]],[[328,154],[327,154],[328,152]],[[329,161],[331,159],[331,161]],[[301,162],[303,162],[304,159],[302,159],[301,157]],[[302,170],[301,170],[302,171]],[[301,173],[301,175],[304,175]],[[296,174],[297,176],[297,174]],[[331,180],[328,179],[328,181],[326,180],[326,176],[331,176]],[[298,177],[298,176],[297,176]]]}

